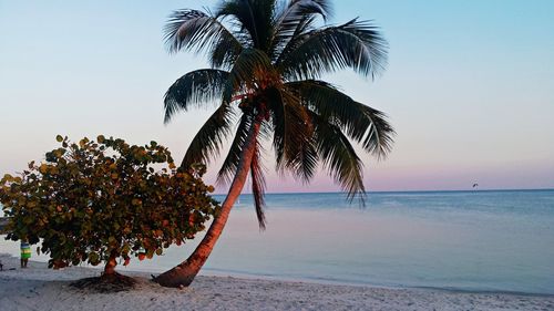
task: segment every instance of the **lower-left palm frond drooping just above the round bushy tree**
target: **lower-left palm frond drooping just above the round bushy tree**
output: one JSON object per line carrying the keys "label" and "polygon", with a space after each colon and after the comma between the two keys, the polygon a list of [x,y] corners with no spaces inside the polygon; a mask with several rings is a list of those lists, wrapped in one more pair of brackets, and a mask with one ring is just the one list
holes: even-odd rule
{"label": "lower-left palm frond drooping just above the round bushy tree", "polygon": [[194,163],[208,164],[211,159],[217,157],[225,138],[230,134],[233,118],[230,105],[223,103],[196,133],[181,166],[188,167]]}

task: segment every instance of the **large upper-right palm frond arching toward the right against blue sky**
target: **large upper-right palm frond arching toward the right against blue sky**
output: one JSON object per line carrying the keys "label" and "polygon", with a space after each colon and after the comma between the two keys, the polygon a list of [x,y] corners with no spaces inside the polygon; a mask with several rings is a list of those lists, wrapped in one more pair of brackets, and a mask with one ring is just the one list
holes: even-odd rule
{"label": "large upper-right palm frond arching toward the right against blue sky", "polygon": [[324,73],[350,68],[375,77],[387,65],[388,43],[368,21],[299,34],[277,60],[279,72],[289,80],[317,79]]}

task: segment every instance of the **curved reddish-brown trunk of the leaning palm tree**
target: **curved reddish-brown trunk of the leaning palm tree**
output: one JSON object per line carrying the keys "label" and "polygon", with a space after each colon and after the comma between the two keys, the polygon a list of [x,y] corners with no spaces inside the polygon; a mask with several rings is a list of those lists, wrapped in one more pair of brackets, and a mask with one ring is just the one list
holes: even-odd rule
{"label": "curved reddish-brown trunk of the leaning palm tree", "polygon": [[202,266],[206,262],[209,253],[214,249],[214,246],[222,235],[223,228],[227,222],[230,209],[235,204],[236,199],[240,195],[244,185],[246,184],[246,178],[248,177],[248,172],[250,169],[250,162],[256,149],[256,141],[259,134],[260,123],[255,121],[248,133],[245,147],[240,155],[240,162],[237,166],[237,173],[233,183],[230,184],[227,197],[223,201],[220,211],[215,216],[212,226],[206,232],[206,236],[202,239],[201,243],[196,247],[194,252],[181,262],[175,268],[160,274],[154,279],[157,283],[164,287],[187,287],[189,286]]}

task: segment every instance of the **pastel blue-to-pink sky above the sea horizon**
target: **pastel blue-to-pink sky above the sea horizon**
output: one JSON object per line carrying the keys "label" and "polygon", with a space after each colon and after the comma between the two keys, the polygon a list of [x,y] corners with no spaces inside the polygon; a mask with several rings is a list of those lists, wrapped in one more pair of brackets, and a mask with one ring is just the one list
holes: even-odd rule
{"label": "pastel blue-to-pink sky above the sea horizon", "polygon": [[[57,134],[154,139],[181,159],[209,110],[165,126],[163,94],[206,62],[168,55],[162,28],[172,10],[214,3],[0,0],[0,174],[41,159]],[[367,188],[554,188],[554,1],[337,0],[335,12],[375,20],[390,42],[375,82],[328,77],[398,132],[387,160],[362,155]],[[279,177],[266,159],[269,191],[338,189],[326,174]]]}

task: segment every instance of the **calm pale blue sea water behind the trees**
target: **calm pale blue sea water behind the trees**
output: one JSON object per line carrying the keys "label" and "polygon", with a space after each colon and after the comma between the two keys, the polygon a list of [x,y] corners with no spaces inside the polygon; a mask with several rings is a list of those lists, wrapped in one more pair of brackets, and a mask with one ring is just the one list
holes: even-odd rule
{"label": "calm pale blue sea water behind the trees", "polygon": [[[240,198],[203,273],[554,294],[554,190],[373,193],[365,208],[340,194],[266,201],[259,231]],[[194,246],[122,271],[163,271]]]}

